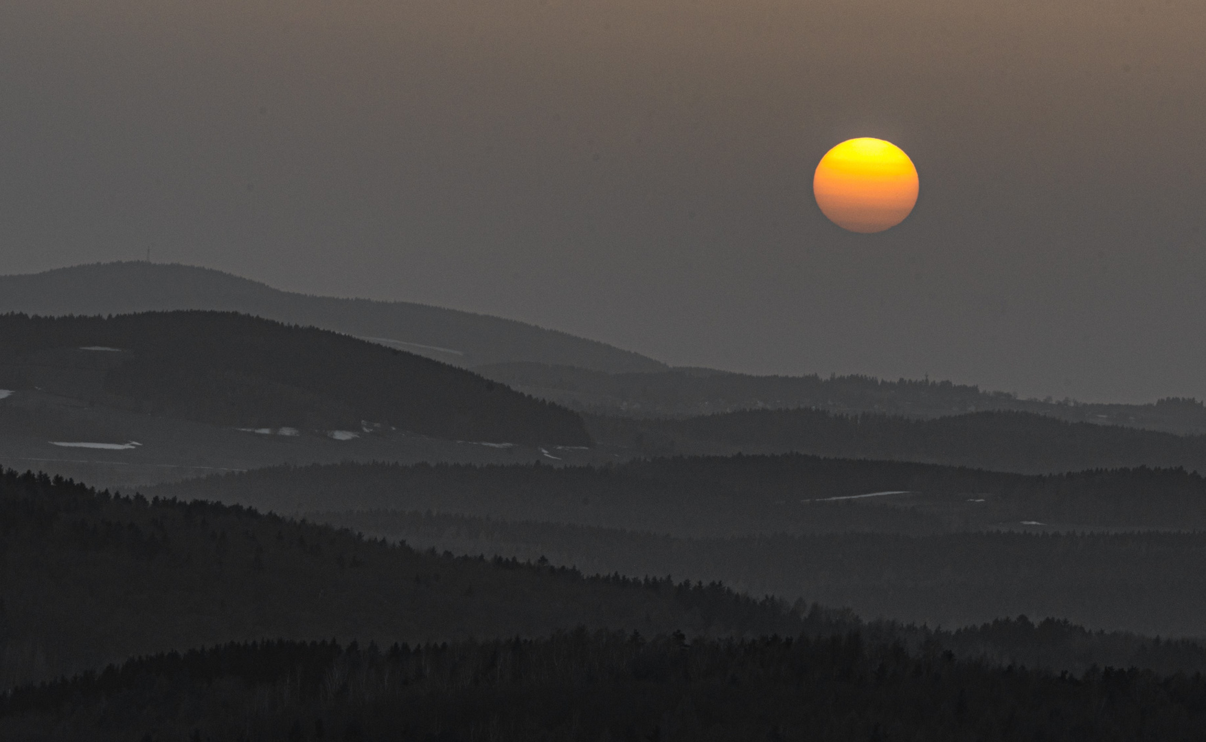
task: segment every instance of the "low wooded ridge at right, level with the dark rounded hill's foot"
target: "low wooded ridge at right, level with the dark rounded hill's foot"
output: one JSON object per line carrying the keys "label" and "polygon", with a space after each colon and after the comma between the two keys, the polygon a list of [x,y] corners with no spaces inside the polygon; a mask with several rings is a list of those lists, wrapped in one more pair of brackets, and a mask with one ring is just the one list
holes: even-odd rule
{"label": "low wooded ridge at right, level with the dark rounded hill's foot", "polygon": [[1136,466],[1206,472],[1206,436],[1065,422],[1030,413],[918,420],[814,409],[744,410],[686,420],[587,416],[587,426],[598,443],[655,456],[797,451],[1028,474]]}

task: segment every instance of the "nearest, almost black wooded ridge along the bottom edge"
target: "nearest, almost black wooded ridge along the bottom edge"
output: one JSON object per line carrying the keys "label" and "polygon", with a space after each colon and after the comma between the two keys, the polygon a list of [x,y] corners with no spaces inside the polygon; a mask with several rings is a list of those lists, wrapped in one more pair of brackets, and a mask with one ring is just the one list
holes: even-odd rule
{"label": "nearest, almost black wooded ridge along the bottom edge", "polygon": [[558,632],[265,642],[130,660],[0,700],[10,740],[1199,740],[1206,679],[1054,674],[930,644]]}

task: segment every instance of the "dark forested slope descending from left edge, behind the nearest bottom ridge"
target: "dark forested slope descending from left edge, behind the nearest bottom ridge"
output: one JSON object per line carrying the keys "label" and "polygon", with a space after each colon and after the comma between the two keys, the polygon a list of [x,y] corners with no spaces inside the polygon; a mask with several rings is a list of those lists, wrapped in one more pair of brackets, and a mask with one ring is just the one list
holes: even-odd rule
{"label": "dark forested slope descending from left edge, behind the nearest bottom ridge", "polygon": [[238,507],[0,474],[0,691],[264,637],[391,643],[578,625],[761,635],[800,621],[719,586],[438,556]]}

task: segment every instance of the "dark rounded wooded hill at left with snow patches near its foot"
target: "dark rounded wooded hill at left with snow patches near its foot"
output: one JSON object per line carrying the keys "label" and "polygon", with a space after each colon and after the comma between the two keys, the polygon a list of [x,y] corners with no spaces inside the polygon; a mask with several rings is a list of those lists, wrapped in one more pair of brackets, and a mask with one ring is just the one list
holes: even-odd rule
{"label": "dark rounded wooded hill at left with snow patches near its foot", "polygon": [[233,312],[0,316],[0,387],[233,427],[590,444],[576,413],[472,372]]}

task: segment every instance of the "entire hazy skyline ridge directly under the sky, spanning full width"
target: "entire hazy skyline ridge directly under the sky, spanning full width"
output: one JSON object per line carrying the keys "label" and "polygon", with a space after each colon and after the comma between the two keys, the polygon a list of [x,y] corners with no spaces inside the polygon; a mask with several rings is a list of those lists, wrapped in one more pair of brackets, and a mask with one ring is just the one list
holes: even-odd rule
{"label": "entire hazy skyline ridge directly under the sky, spanning full width", "polygon": [[147,262],[94,263],[0,276],[0,312],[49,316],[201,309],[312,326],[472,368],[517,391],[584,413],[690,417],[808,407],[841,414],[938,417],[1025,411],[1072,422],[1206,433],[1206,405],[1019,399],[950,381],[847,375],[751,375],[672,368],[654,358],[525,322],[408,302],[280,291],[219,270]]}

